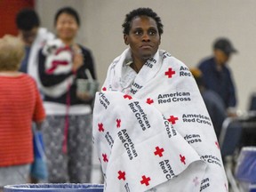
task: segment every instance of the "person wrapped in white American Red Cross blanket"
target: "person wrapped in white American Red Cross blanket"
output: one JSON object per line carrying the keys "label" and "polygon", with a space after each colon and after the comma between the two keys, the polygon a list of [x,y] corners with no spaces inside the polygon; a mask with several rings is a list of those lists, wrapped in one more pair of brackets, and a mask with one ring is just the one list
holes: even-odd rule
{"label": "person wrapped in white American Red Cross blanket", "polygon": [[227,192],[212,121],[188,67],[158,49],[156,12],[126,15],[129,47],[108,68],[93,111],[105,190]]}

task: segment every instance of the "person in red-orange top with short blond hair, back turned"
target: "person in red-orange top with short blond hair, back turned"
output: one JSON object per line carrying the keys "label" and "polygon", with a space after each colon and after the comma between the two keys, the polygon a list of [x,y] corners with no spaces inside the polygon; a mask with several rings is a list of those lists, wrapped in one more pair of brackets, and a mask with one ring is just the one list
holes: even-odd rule
{"label": "person in red-orange top with short blond hair, back turned", "polygon": [[19,38],[0,39],[0,187],[28,182],[34,160],[32,121],[44,120],[35,80],[20,73],[24,49]]}

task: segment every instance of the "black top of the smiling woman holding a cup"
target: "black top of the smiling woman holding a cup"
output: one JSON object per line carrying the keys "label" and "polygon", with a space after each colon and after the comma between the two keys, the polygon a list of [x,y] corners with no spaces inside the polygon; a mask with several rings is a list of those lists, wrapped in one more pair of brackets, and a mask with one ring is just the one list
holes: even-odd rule
{"label": "black top of the smiling woman holding a cup", "polygon": [[[92,53],[90,52],[90,50],[83,47],[82,45],[79,45],[79,47],[82,50],[82,54],[84,55],[84,64],[82,65],[82,67],[77,69],[75,81],[73,82],[73,84],[71,84],[70,91],[69,91],[70,92],[69,93],[70,94],[70,105],[92,104],[92,100],[84,101],[84,100],[80,100],[76,97],[76,79],[77,78],[88,79],[88,77],[85,74],[86,68],[88,68],[90,70],[90,72],[92,74],[92,78],[96,79],[95,72],[94,72],[94,63],[92,60]],[[40,50],[38,58],[39,58],[38,59],[39,60],[39,62],[38,62],[39,63],[39,66],[38,66],[39,78],[40,78],[41,84],[43,84],[44,87],[51,87],[52,85],[60,84],[66,78],[73,75],[72,71],[65,73],[65,74],[63,73],[60,75],[47,74],[45,72],[45,64],[44,64],[45,56],[44,56],[42,50]],[[63,95],[61,95],[58,98],[52,98],[52,97],[44,94],[44,101],[52,101],[52,102],[66,104],[67,98],[68,98],[67,92],[65,92]]]}

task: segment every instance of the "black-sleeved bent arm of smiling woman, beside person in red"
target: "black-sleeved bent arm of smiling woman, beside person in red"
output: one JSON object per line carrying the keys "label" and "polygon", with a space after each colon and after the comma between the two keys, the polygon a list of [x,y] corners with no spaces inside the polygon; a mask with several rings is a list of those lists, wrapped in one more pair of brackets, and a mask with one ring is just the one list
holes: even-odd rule
{"label": "black-sleeved bent arm of smiling woman, beside person in red", "polygon": [[45,71],[45,60],[46,58],[41,50],[38,55],[38,73],[39,73],[41,84],[43,84],[45,87],[49,87],[55,84],[60,84],[69,76],[73,75],[72,71],[66,74],[60,74],[60,75],[47,74]]}

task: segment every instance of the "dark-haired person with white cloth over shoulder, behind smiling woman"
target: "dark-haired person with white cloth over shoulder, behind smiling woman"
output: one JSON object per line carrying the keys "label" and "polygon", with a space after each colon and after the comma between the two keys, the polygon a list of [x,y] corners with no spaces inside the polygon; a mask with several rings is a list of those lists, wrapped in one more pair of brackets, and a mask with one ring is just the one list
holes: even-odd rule
{"label": "dark-haired person with white cloth over shoulder, behind smiling woman", "polygon": [[16,26],[25,49],[25,57],[19,70],[33,76],[38,85],[38,52],[47,40],[54,38],[54,35],[46,28],[40,28],[40,19],[33,9],[25,8],[18,12]]}

